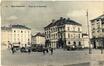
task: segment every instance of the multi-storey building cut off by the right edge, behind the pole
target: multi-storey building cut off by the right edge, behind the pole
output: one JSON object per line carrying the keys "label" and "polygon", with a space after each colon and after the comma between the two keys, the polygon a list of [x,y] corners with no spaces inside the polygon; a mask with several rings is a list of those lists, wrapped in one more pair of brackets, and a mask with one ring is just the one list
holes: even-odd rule
{"label": "multi-storey building cut off by the right edge, behind the pole", "polygon": [[104,14],[91,20],[91,31],[94,48],[104,46]]}

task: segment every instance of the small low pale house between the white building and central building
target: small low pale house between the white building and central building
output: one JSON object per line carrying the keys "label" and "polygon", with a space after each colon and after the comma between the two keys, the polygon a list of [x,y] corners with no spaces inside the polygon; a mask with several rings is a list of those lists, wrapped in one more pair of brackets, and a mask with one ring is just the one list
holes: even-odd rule
{"label": "small low pale house between the white building and central building", "polygon": [[45,45],[45,35],[39,32],[32,36],[32,44]]}

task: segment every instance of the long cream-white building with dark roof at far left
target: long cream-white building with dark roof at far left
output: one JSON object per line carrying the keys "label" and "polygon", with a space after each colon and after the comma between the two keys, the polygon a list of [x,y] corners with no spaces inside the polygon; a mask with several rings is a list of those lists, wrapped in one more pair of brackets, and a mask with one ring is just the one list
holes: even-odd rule
{"label": "long cream-white building with dark roof at far left", "polygon": [[[26,47],[31,44],[31,29],[24,25],[10,25],[1,27],[2,44],[12,44],[12,46]],[[6,37],[8,35],[8,38]]]}

